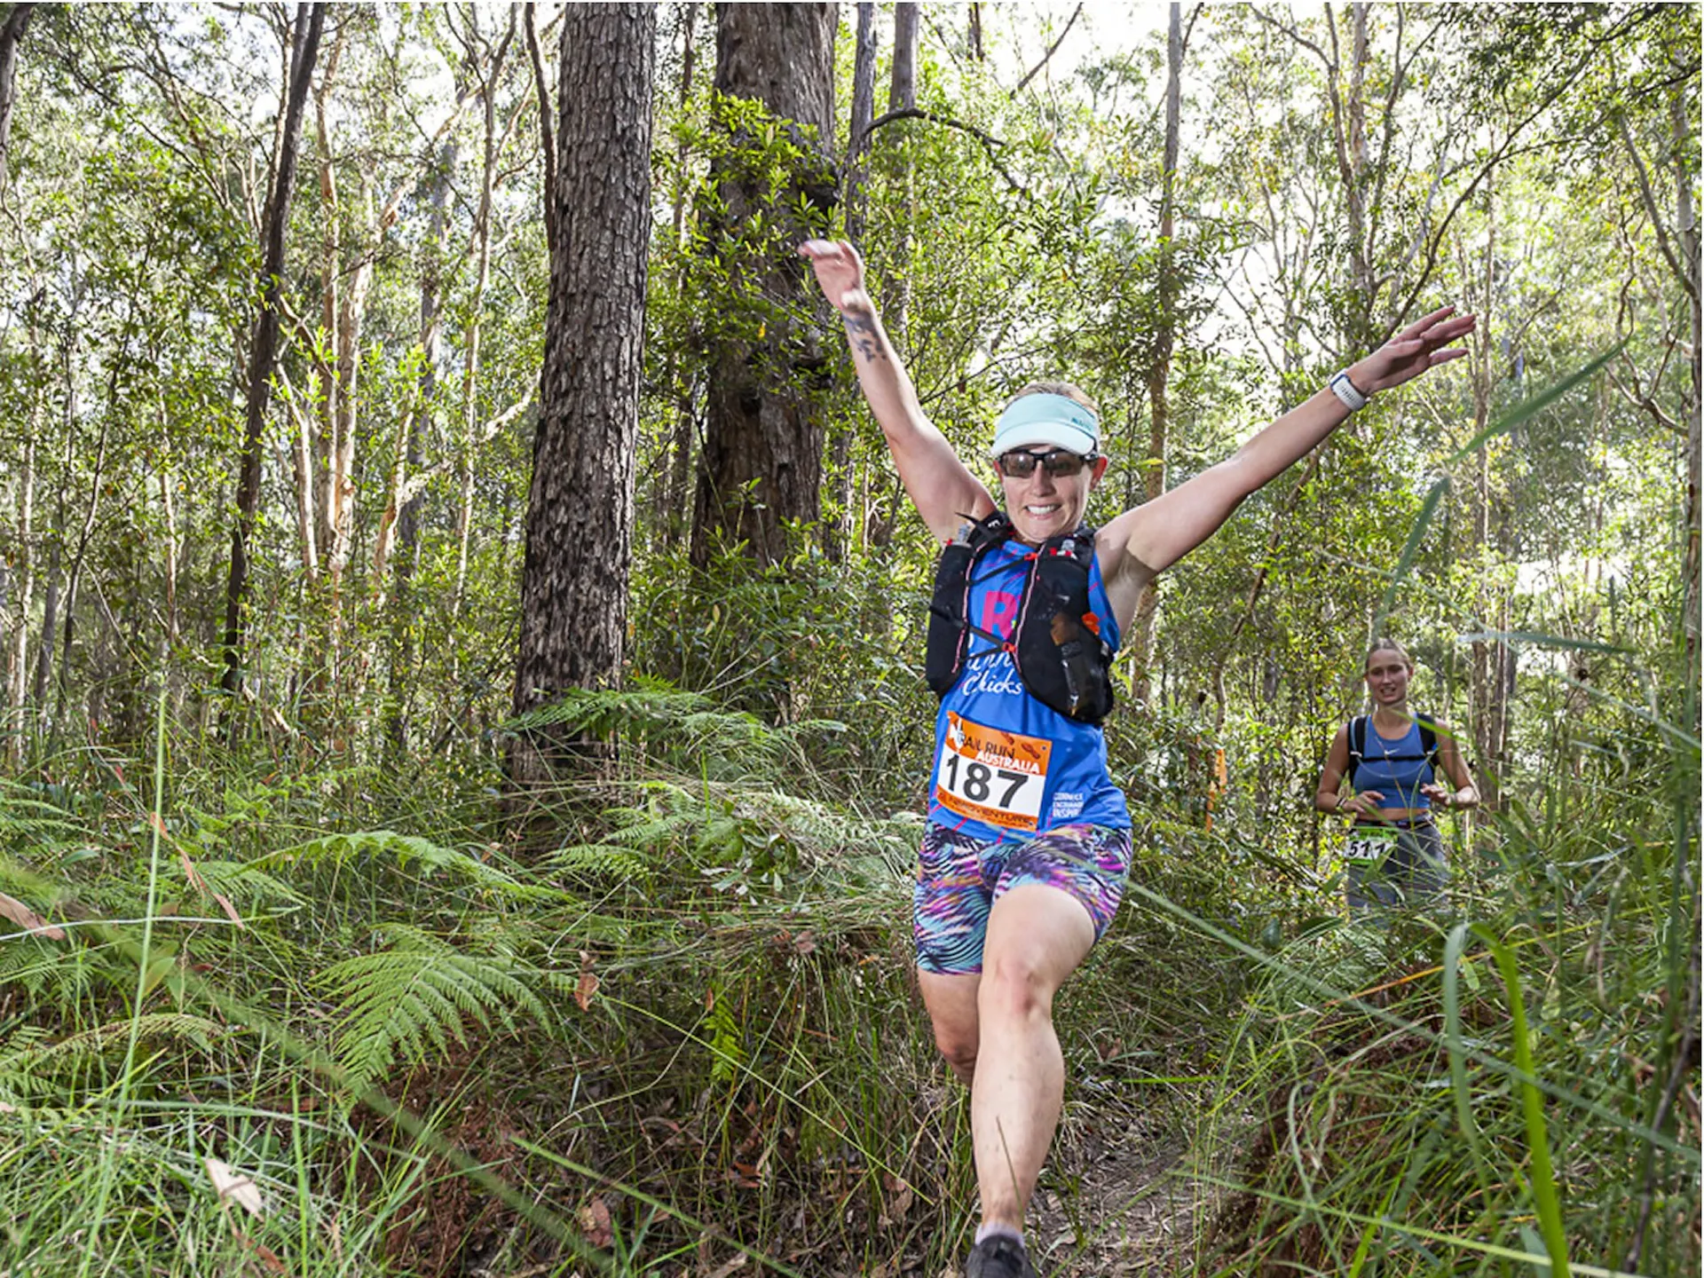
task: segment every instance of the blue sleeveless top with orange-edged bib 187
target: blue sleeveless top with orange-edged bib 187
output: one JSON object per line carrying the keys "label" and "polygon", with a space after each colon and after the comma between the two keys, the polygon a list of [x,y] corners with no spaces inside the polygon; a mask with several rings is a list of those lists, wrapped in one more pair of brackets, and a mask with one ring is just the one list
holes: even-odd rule
{"label": "blue sleeveless top with orange-edged bib 187", "polygon": [[[1031,547],[1007,540],[971,566],[964,617],[1010,642]],[[1118,651],[1118,622],[1091,559],[1089,607]],[[1022,842],[1060,825],[1130,828],[1125,794],[1106,770],[1106,734],[1043,705],[1004,648],[971,630],[964,673],[935,716],[929,820],[987,842]]]}

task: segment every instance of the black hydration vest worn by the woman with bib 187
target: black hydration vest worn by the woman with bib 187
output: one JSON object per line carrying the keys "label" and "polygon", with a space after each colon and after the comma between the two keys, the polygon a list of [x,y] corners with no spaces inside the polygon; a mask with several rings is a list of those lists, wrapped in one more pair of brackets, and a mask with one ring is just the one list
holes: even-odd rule
{"label": "black hydration vest worn by the woman with bib 187", "polygon": [[[946,697],[964,663],[990,651],[1009,651],[1029,695],[1067,719],[1099,726],[1113,709],[1113,649],[1101,637],[1101,619],[1089,605],[1089,566],[1094,528],[1050,537],[1031,552],[1012,639],[988,634],[966,615],[976,561],[1012,537],[1012,521],[995,511],[964,525],[941,552],[935,595],[929,603],[929,649],[924,673],[937,697]],[[970,651],[971,636],[990,648]]]}

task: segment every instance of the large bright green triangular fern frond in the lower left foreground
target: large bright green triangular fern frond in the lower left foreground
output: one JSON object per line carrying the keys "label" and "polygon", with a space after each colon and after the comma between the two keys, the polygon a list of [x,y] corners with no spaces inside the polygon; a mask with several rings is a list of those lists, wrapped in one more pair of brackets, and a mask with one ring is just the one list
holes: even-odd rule
{"label": "large bright green triangular fern frond in the lower left foreground", "polygon": [[317,983],[339,1005],[336,1058],[353,1092],[399,1058],[419,1063],[465,1043],[469,1021],[487,1033],[549,1021],[537,970],[509,958],[467,954],[412,927],[387,927],[394,946],[325,968]]}

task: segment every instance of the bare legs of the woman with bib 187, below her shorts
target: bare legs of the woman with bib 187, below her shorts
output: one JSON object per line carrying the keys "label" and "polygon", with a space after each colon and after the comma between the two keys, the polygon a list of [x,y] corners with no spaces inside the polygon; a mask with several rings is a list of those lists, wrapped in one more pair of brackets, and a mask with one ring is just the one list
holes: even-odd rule
{"label": "bare legs of the woman with bib 187, below her shorts", "polygon": [[1029,883],[995,903],[980,976],[918,973],[935,1045],[971,1084],[983,1223],[1024,1227],[1065,1097],[1053,995],[1092,944],[1077,900]]}

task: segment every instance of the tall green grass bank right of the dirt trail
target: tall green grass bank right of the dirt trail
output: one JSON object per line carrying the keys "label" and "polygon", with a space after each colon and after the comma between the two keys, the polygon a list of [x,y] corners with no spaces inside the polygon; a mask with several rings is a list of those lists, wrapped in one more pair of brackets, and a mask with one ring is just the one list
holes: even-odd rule
{"label": "tall green grass bank right of the dirt trail", "polygon": [[1198,1271],[1697,1273],[1694,704],[1508,787],[1445,908],[1259,956]]}

